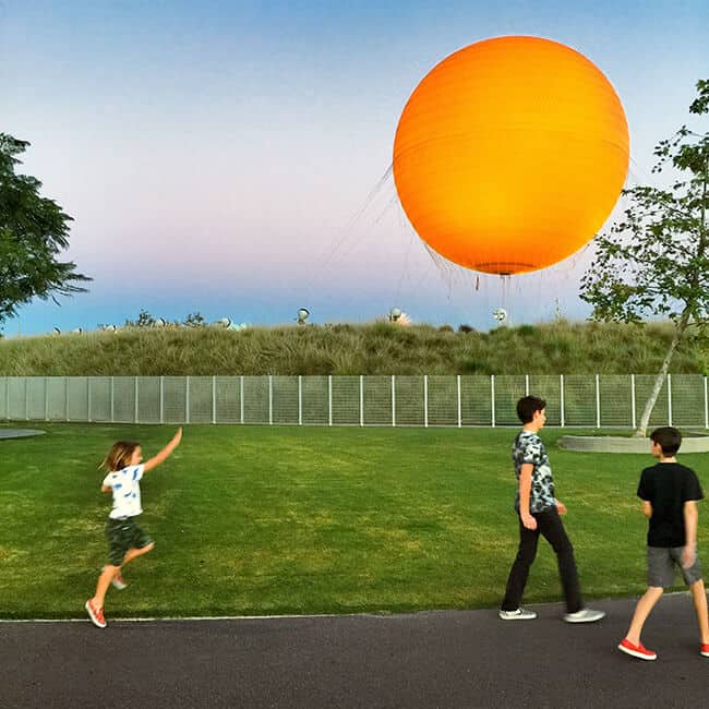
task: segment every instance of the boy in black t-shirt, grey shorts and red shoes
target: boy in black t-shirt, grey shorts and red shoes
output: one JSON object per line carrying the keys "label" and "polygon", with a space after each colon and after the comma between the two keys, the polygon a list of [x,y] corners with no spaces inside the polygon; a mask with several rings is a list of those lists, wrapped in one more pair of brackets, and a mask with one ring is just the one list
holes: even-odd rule
{"label": "boy in black t-shirt, grey shorts and red shoes", "polygon": [[642,625],[665,588],[673,585],[675,566],[692,591],[699,622],[699,653],[709,658],[709,618],[707,594],[697,556],[697,501],[704,497],[694,470],[675,458],[682,433],[672,426],[657,429],[650,435],[651,453],[660,462],[640,476],[638,497],[648,517],[648,590],[635,606],[630,627],[618,650],[640,660],[656,660],[657,653],[640,642]]}

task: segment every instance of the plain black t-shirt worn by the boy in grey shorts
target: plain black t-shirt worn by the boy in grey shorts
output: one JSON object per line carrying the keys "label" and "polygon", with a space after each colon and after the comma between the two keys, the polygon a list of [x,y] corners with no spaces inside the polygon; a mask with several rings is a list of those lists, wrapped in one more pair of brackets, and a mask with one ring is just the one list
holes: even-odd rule
{"label": "plain black t-shirt worn by the boy in grey shorts", "polygon": [[652,505],[648,546],[684,546],[684,503],[701,500],[704,492],[692,468],[658,462],[640,476],[638,497]]}

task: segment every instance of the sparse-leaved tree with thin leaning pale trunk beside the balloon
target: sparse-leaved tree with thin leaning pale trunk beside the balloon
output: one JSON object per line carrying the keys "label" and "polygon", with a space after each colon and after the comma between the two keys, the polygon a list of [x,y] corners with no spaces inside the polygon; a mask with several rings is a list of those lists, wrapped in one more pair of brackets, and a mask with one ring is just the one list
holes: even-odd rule
{"label": "sparse-leaved tree with thin leaning pale trunk beside the balloon", "polygon": [[[706,116],[709,80],[697,83],[697,93],[689,112]],[[657,145],[654,155],[652,171],[670,168],[674,181],[666,189],[624,190],[625,218],[597,237],[580,292],[593,305],[593,320],[641,324],[656,315],[674,325],[636,435],[645,435],[677,346],[693,328],[706,326],[709,315],[709,132],[683,125]]]}

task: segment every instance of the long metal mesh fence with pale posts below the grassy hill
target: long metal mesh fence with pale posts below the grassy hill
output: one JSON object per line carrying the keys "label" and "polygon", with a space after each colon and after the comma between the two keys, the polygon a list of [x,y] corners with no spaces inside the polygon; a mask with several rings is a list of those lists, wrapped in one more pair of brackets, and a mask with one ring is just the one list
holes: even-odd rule
{"label": "long metal mesh fence with pale posts below the grassy hill", "polygon": [[[0,377],[0,419],[292,425],[517,425],[517,399],[550,425],[634,428],[653,375]],[[707,377],[668,376],[650,425],[709,428]]]}

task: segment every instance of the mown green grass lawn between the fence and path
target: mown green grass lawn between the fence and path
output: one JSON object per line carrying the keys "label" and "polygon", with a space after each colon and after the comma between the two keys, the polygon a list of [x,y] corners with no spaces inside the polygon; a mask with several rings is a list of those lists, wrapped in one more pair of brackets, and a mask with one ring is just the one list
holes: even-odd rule
{"label": "mown green grass lawn between the fence and path", "polygon": [[[22,425],[22,424],[20,424]],[[83,617],[106,563],[98,464],[145,457],[176,426],[32,424],[0,440],[0,617]],[[142,482],[155,550],[109,589],[107,616],[400,612],[494,606],[517,545],[513,429],[190,425]],[[645,588],[640,455],[564,452],[542,431],[587,598]],[[709,457],[686,455],[705,490]],[[709,558],[709,516],[699,515]],[[677,582],[681,582],[680,580]],[[540,543],[526,602],[561,600]]]}

